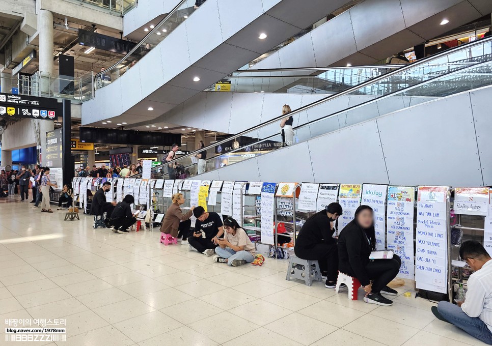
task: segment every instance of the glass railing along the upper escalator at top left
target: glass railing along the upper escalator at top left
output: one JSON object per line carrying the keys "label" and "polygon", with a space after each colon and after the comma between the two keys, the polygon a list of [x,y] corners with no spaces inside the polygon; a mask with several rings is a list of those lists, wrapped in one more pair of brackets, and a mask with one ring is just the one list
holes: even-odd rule
{"label": "glass railing along the upper escalator at top left", "polygon": [[[119,62],[96,74],[94,80],[95,88],[104,88],[104,86],[111,84],[134,66],[195,11],[194,5],[195,0],[182,0],[160,23],[155,27],[151,26],[151,30],[142,41],[136,44]],[[207,6],[207,3],[203,6]]]}

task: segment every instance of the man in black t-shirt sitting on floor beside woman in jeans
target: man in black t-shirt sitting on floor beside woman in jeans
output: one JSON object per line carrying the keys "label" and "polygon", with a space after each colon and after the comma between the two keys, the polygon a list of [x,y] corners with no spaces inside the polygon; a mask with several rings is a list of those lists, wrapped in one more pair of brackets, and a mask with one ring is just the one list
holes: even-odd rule
{"label": "man in black t-shirt sitting on floor beside woman in jeans", "polygon": [[[207,213],[203,207],[196,207],[193,215],[197,218],[193,237],[188,237],[189,245],[197,249],[204,255],[211,256],[215,253],[218,246],[218,239],[224,234],[222,217],[217,213]],[[202,231],[205,233],[205,238]]]}

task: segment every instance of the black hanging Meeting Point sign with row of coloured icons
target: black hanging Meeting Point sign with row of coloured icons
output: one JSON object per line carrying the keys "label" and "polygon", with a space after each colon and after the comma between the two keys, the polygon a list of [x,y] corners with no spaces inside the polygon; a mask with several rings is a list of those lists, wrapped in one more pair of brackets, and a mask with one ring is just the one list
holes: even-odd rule
{"label": "black hanging Meeting Point sign with row of coloured icons", "polygon": [[0,93],[0,116],[4,118],[54,120],[61,116],[58,109],[57,99]]}

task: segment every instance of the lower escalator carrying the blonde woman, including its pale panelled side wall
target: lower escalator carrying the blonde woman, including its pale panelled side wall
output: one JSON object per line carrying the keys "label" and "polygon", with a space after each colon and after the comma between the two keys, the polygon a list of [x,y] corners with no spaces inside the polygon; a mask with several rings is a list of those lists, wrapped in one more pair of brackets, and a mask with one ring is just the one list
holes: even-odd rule
{"label": "lower escalator carrying the blonde woman, including its pale panelled side wall", "polygon": [[[293,110],[293,145],[283,145],[278,117],[206,147],[199,177],[490,185],[491,84],[492,38],[461,45]],[[336,106],[361,93],[348,108]],[[171,163],[195,176],[196,154]],[[167,165],[153,174],[161,168],[166,179]]]}

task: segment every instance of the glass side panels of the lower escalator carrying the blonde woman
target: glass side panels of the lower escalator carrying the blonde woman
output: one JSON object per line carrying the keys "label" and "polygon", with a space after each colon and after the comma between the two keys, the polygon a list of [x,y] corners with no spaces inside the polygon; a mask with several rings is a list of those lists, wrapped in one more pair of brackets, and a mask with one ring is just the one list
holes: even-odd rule
{"label": "glass side panels of the lower escalator carrying the blonde woman", "polygon": [[[492,38],[487,38],[461,45],[293,110],[289,114],[294,118],[294,123],[302,125],[292,129],[291,143],[286,143],[280,134],[279,123],[285,116],[279,116],[157,166],[152,170],[153,175],[169,179],[174,167],[179,165],[193,176],[197,174],[198,166],[192,164],[192,157],[201,151],[207,153],[207,171],[213,170],[428,101],[429,97],[447,96],[491,85],[491,43]],[[385,86],[380,88],[385,90],[384,94],[361,95],[361,91],[370,84]],[[350,97],[349,108],[341,106],[343,102],[334,102],[347,95],[357,96]]]}

